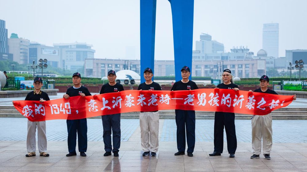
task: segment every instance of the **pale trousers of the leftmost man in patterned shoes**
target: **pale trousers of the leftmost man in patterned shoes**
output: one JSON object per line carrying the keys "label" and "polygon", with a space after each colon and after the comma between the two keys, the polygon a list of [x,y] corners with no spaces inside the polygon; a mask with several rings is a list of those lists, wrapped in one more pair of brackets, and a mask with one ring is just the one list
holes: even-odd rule
{"label": "pale trousers of the leftmost man in patterned shoes", "polygon": [[38,151],[47,152],[47,138],[46,138],[46,121],[32,122],[28,120],[28,135],[27,135],[27,151],[36,151],[36,126],[37,126],[37,142]]}

